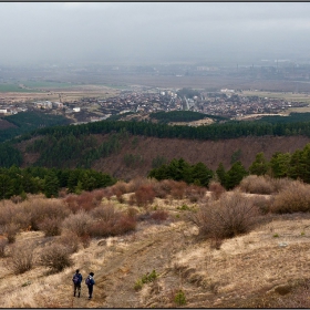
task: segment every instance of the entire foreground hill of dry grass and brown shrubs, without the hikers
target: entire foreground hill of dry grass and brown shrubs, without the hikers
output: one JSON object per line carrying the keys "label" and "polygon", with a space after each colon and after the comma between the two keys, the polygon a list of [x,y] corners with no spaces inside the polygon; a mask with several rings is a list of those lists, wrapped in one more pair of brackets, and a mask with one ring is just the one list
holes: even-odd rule
{"label": "entire foreground hill of dry grass and brown shrubs, without the hikers", "polygon": [[[277,185],[271,196],[223,192],[216,183],[207,192],[173,180],[140,179],[84,194],[82,208],[69,207],[68,202],[78,202],[72,194],[59,199],[30,196],[18,204],[6,200],[0,206],[1,230],[10,223],[23,229],[16,231],[12,244],[0,239],[1,266],[10,267],[0,268],[0,288],[6,291],[0,302],[11,308],[264,308],[290,300],[287,304],[307,307],[310,217],[300,211],[309,188],[293,180],[266,182]],[[260,192],[259,186],[248,186]],[[152,189],[153,200],[145,199],[145,208],[136,202],[130,206],[128,197],[141,188]],[[34,217],[34,210],[40,216]],[[13,213],[19,214],[16,220]],[[192,220],[184,220],[188,217]],[[46,237],[42,229],[53,218],[60,231]],[[35,229],[29,229],[30,223]],[[29,245],[34,247],[31,265],[14,271],[10,261],[25,257],[22,251]],[[95,272],[92,301],[83,285],[82,298],[70,298],[76,268],[83,276],[90,269]],[[135,291],[136,280],[152,270],[156,279]]]}

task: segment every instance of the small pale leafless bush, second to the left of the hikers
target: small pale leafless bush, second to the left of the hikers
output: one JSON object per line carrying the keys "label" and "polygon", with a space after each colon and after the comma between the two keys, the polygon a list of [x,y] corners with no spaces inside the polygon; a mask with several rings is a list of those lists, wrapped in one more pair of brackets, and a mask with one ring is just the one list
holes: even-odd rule
{"label": "small pale leafless bush, second to the left of the hikers", "polygon": [[33,267],[33,245],[14,245],[11,247],[9,267],[16,275],[31,270]]}

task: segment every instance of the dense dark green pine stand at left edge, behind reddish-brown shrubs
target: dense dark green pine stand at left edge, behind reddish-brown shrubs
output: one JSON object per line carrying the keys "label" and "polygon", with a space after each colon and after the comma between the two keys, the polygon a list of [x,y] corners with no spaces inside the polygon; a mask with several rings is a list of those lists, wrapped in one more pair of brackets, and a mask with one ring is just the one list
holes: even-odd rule
{"label": "dense dark green pine stand at left edge, behind reddish-brown shrubs", "polygon": [[61,188],[80,194],[83,190],[106,187],[116,179],[105,173],[93,169],[56,169],[45,167],[0,168],[0,199],[27,194],[43,193],[48,198],[58,197]]}

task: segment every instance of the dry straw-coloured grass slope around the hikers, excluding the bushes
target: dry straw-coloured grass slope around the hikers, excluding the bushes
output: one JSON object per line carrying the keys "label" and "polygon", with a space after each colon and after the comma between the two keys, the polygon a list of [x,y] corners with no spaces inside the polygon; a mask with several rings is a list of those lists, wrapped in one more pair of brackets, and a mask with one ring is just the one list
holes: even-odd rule
{"label": "dry straw-coloured grass slope around the hikers, excluding the bushes", "polygon": [[[124,195],[124,202],[127,199]],[[125,207],[115,196],[111,203]],[[216,249],[209,240],[197,238],[197,227],[186,220],[197,204],[186,198],[156,198],[149,210],[165,209],[167,219],[141,220],[133,232],[92,239],[89,247],[72,255],[73,266],[60,273],[34,266],[16,276],[9,258],[0,258],[1,306],[177,308],[174,299],[179,289],[186,308],[298,308],[299,301],[304,302],[300,289],[310,278],[309,214],[268,215],[251,232],[226,239]],[[187,208],[182,209],[184,205]],[[18,234],[16,244],[34,242],[44,249],[51,240],[42,231],[24,231]],[[76,268],[84,277],[90,270],[95,273],[91,301],[84,283],[81,298],[72,296],[71,278]],[[156,280],[135,290],[136,281],[152,270]],[[302,303],[307,304],[309,301]]]}

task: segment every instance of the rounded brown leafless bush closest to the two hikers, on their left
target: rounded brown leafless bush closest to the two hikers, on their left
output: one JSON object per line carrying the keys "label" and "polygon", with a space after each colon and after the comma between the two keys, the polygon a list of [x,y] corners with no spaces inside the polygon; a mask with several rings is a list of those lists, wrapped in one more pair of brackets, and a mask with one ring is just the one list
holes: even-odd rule
{"label": "rounded brown leafless bush closest to the two hikers, on their left", "polygon": [[40,265],[49,268],[52,272],[60,272],[73,265],[70,251],[65,246],[53,244],[46,246],[40,256]]}

